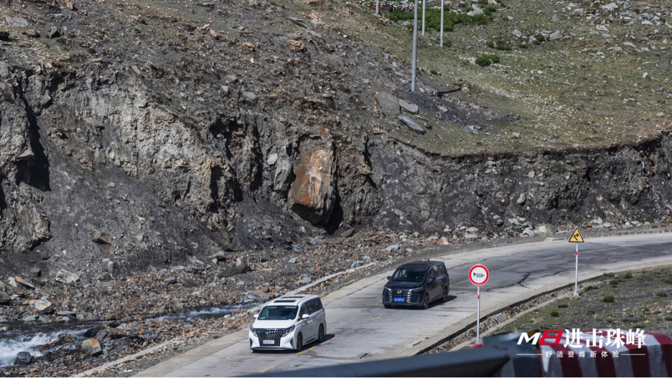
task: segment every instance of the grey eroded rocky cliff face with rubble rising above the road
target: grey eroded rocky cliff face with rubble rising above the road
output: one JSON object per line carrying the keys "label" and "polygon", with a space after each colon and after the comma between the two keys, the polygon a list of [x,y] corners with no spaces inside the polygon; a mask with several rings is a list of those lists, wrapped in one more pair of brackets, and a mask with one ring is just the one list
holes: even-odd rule
{"label": "grey eroded rocky cliff face with rubble rising above the road", "polygon": [[[113,255],[133,270],[289,248],[304,229],[434,234],[464,224],[518,235],[509,219],[669,213],[666,135],[607,151],[441,155],[389,133],[405,126],[376,94],[405,93],[401,62],[281,9],[218,4],[217,14],[244,17],[196,27],[196,16],[78,7],[51,19],[46,8],[12,8],[62,34],[29,40],[10,28],[17,44],[0,69],[2,258],[86,270]],[[48,59],[22,58],[25,46]],[[463,114],[431,81],[420,88],[421,114],[437,105],[448,109],[441,119]]]}

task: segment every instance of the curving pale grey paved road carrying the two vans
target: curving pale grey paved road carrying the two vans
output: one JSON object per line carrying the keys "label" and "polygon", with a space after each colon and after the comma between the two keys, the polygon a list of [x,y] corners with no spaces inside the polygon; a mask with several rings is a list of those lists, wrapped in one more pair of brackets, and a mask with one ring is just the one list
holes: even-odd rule
{"label": "curving pale grey paved road carrying the two vans", "polygon": [[[448,331],[450,326],[476,318],[476,287],[467,272],[485,264],[490,281],[481,289],[481,310],[487,313],[514,298],[532,295],[574,280],[574,244],[547,241],[471,252],[443,260],[450,273],[450,301],[427,310],[384,309],[380,303],[384,273],[365,278],[323,298],[327,338],[301,353],[251,353],[244,339],[184,365],[169,360],[145,372],[170,378],[229,377],[275,370],[293,370],[339,363],[410,356]],[[579,246],[579,279],[603,271],[672,264],[672,234],[593,238]],[[211,354],[210,354],[211,353]]]}

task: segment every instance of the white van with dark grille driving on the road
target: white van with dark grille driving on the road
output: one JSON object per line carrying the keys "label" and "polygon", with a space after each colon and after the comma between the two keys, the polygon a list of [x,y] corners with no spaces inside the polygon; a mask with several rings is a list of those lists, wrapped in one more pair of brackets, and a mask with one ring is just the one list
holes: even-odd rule
{"label": "white van with dark grille driving on the road", "polygon": [[322,342],[327,320],[322,301],[317,295],[290,295],[268,302],[255,313],[250,327],[250,349],[291,349],[300,351],[304,345]]}

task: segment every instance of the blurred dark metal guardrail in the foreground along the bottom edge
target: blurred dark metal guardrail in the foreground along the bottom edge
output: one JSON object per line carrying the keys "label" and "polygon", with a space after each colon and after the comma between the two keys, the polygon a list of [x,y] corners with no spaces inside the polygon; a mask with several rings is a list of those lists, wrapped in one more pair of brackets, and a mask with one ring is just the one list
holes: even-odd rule
{"label": "blurred dark metal guardrail in the foreground along the bottom edge", "polygon": [[529,344],[485,346],[366,363],[349,363],[287,372],[255,374],[263,378],[539,378],[539,351]]}

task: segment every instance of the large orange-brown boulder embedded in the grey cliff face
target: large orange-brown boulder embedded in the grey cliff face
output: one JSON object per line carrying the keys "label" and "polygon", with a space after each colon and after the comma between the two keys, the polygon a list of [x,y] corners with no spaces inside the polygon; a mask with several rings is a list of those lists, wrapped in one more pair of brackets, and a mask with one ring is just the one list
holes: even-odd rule
{"label": "large orange-brown boulder embedded in the grey cliff face", "polygon": [[288,196],[292,210],[312,224],[327,224],[335,202],[334,152],[305,152],[294,173],[296,179]]}

